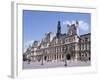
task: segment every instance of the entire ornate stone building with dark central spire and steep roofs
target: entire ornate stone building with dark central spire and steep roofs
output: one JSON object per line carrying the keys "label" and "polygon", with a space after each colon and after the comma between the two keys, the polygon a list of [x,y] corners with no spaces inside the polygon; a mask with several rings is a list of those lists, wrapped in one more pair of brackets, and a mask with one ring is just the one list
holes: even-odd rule
{"label": "entire ornate stone building with dark central spire and steep roofs", "polygon": [[68,32],[61,33],[61,24],[58,21],[57,32],[49,32],[41,41],[34,41],[25,52],[31,61],[87,61],[90,60],[91,34],[78,35],[78,21],[68,24]]}

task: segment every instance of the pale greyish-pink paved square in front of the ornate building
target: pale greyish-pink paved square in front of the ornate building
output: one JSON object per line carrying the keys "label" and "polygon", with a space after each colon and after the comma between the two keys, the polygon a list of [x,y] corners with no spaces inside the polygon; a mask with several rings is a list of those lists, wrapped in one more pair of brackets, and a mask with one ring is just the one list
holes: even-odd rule
{"label": "pale greyish-pink paved square in front of the ornate building", "polygon": [[77,66],[90,66],[90,61],[67,61],[67,66],[65,65],[65,62],[43,62],[43,65],[41,65],[42,62],[23,62],[23,69],[41,69],[41,68],[56,68],[56,67],[77,67]]}

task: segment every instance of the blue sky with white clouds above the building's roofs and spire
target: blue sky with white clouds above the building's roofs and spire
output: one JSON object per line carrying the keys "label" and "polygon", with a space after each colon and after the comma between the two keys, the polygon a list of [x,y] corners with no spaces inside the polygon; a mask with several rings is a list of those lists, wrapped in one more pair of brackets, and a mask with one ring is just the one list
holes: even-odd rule
{"label": "blue sky with white clouds above the building's roofs and spire", "polygon": [[24,44],[32,40],[41,40],[47,32],[56,33],[59,20],[62,33],[67,32],[66,24],[75,20],[80,21],[80,34],[89,33],[91,30],[90,13],[23,10]]}

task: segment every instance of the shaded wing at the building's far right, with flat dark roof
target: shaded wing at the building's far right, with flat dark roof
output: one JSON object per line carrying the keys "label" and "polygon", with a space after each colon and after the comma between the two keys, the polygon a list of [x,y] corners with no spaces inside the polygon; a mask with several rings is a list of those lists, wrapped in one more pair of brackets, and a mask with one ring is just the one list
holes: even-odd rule
{"label": "shaded wing at the building's far right, with flat dark roof", "polygon": [[80,58],[81,60],[91,59],[91,34],[84,34],[80,36],[79,48],[80,48]]}

